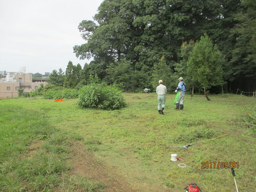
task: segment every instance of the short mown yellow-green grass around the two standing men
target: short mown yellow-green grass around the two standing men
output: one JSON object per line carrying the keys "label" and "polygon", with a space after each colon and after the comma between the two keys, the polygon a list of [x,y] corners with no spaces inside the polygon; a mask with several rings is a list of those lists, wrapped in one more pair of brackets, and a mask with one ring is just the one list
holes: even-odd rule
{"label": "short mown yellow-green grass around the two standing men", "polygon": [[[81,109],[76,105],[77,99],[0,102],[42,111],[49,126],[65,132],[65,136],[60,132],[56,139],[47,139],[45,153],[52,151],[56,157],[65,158],[63,154],[68,155],[69,151],[52,146],[63,145],[60,141],[67,138],[81,140],[87,150],[93,151],[106,166],[115,167],[139,191],[182,191],[191,182],[196,182],[203,191],[235,190],[229,169],[201,169],[202,162],[239,162],[239,189],[254,188],[255,132],[243,124],[242,113],[255,106],[255,99],[227,94],[211,95],[212,101],[206,101],[202,95],[195,95],[185,98],[183,111],[176,111],[171,104],[174,95],[167,95],[165,115],[157,113],[155,94],[126,93],[125,99],[127,107],[114,111]],[[222,134],[229,135],[210,139]],[[202,140],[205,142],[187,150],[166,148]],[[172,153],[185,160],[187,167],[181,169],[180,162],[171,162]]]}

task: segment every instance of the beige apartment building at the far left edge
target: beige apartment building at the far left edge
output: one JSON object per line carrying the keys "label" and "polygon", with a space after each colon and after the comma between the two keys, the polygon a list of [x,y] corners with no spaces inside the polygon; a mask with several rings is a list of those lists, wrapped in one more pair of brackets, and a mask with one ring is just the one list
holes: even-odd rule
{"label": "beige apartment building at the far left edge", "polygon": [[[9,75],[9,82],[0,83],[0,98],[13,98],[18,97],[18,90],[23,89],[23,92],[32,92],[38,89],[47,82],[32,82],[32,74],[21,74],[21,73],[7,73]],[[7,77],[6,76],[6,77]],[[7,78],[6,78],[7,80]]]}

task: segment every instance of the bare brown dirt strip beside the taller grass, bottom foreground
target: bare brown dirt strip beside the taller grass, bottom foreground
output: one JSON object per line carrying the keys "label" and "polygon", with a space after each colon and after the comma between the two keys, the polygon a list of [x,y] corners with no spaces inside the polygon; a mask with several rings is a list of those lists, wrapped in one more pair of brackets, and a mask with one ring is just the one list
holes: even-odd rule
{"label": "bare brown dirt strip beside the taller grass, bottom foreground", "polygon": [[127,182],[126,178],[111,170],[110,167],[106,167],[98,162],[94,155],[85,150],[84,146],[80,143],[75,142],[71,150],[73,154],[71,157],[71,163],[73,165],[71,174],[81,175],[101,182],[105,185],[104,191],[106,192],[138,191],[134,189],[131,183]]}

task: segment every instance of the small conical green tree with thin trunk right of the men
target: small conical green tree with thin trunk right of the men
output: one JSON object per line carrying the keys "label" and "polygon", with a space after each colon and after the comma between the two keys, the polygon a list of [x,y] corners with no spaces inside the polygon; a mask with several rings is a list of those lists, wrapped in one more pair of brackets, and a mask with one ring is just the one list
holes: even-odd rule
{"label": "small conical green tree with thin trunk right of the men", "polygon": [[223,83],[222,65],[224,61],[221,52],[206,34],[199,42],[196,42],[189,55],[188,73],[191,74],[194,82],[202,85],[205,97],[209,101],[206,89]]}

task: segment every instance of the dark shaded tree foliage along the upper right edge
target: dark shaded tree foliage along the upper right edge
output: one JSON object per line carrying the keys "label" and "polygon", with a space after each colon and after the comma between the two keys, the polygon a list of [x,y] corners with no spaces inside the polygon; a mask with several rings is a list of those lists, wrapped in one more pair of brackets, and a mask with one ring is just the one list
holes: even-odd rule
{"label": "dark shaded tree foliage along the upper right edge", "polygon": [[236,46],[232,51],[235,74],[256,78],[256,1],[243,0],[244,10],[236,15],[233,29]]}

